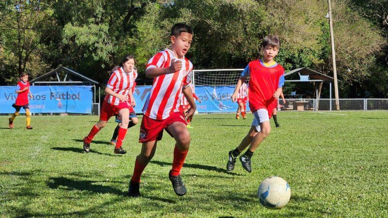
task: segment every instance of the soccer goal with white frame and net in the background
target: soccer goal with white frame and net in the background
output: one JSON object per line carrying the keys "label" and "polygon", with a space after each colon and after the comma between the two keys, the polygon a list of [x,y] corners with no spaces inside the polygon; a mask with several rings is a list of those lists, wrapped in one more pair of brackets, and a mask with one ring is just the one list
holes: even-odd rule
{"label": "soccer goal with white frame and net in the background", "polygon": [[[199,113],[232,113],[237,103],[231,96],[244,69],[193,70],[194,92],[202,103],[197,104]],[[249,81],[249,78],[246,82]]]}

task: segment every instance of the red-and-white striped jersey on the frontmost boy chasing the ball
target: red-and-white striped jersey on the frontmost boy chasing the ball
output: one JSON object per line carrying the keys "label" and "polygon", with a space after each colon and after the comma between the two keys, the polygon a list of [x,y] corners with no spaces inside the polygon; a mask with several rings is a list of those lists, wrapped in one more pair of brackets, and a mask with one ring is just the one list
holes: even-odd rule
{"label": "red-and-white striped jersey on the frontmost boy chasing the ball", "polygon": [[182,69],[173,74],[165,74],[154,78],[152,88],[143,107],[144,115],[151,119],[164,120],[174,112],[179,112],[182,87],[191,83],[193,63],[188,59],[178,59],[170,49],[164,49],[152,57],[146,69],[171,65],[171,60],[182,61]]}

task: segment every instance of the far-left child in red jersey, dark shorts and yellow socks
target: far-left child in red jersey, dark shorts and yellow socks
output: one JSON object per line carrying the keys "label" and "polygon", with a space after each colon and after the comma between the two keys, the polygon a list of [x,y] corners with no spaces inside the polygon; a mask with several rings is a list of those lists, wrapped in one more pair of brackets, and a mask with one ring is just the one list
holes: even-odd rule
{"label": "far-left child in red jersey, dark shorts and yellow socks", "polygon": [[16,91],[17,97],[15,104],[12,105],[16,109],[15,113],[12,114],[12,117],[8,119],[8,125],[11,129],[14,128],[14,120],[21,108],[26,110],[26,128],[32,129],[31,124],[31,112],[28,107],[28,95],[32,98],[32,93],[30,91],[30,83],[28,82],[28,74],[20,74],[20,81],[17,82]]}

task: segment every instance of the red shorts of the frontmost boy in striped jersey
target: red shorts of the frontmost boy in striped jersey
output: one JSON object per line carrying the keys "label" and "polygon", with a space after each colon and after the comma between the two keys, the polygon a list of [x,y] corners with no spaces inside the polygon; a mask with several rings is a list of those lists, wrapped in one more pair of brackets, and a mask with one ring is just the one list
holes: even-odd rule
{"label": "red shorts of the frontmost boy in striped jersey", "polygon": [[142,124],[140,125],[139,142],[143,143],[148,141],[162,140],[163,129],[165,129],[172,137],[171,133],[168,132],[167,127],[175,122],[180,122],[184,125],[187,125],[182,112],[174,112],[164,120],[154,120],[144,115]]}

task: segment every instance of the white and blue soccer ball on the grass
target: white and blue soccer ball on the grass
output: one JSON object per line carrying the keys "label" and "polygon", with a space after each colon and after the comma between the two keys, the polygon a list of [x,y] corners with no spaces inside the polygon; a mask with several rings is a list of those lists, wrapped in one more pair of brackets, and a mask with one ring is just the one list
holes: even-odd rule
{"label": "white and blue soccer ball on the grass", "polygon": [[291,188],[284,179],[271,176],[260,183],[258,197],[267,208],[282,208],[290,201]]}

